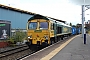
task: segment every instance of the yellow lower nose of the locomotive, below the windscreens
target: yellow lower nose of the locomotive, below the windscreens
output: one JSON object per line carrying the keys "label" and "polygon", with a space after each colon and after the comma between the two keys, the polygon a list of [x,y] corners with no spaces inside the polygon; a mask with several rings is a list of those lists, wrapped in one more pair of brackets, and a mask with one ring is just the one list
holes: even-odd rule
{"label": "yellow lower nose of the locomotive, below the windscreens", "polygon": [[32,40],[32,44],[42,44],[45,40],[49,38],[49,31],[48,30],[29,30],[28,36]]}

